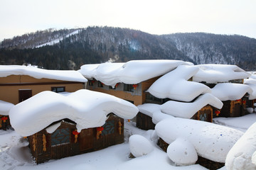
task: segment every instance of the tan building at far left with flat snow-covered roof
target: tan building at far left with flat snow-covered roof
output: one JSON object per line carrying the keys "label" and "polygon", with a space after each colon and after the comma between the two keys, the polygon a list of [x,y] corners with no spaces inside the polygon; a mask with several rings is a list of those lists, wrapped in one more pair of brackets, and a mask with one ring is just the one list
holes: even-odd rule
{"label": "tan building at far left with flat snow-covered roof", "polygon": [[[86,82],[87,79],[76,71],[0,66],[0,100],[16,105],[41,91],[73,92],[85,89]],[[2,119],[3,116],[0,115]],[[5,117],[7,118],[6,125],[2,127],[10,125],[9,116]]]}

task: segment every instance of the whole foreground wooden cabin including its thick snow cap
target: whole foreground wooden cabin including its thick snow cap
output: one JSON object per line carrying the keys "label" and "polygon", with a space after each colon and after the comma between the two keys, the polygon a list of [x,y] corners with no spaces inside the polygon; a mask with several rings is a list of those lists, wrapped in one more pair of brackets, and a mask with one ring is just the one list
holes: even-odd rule
{"label": "whole foreground wooden cabin including its thick snow cap", "polygon": [[66,95],[43,91],[11,108],[9,115],[16,132],[28,137],[39,164],[124,142],[123,118],[137,112],[128,101],[82,89]]}

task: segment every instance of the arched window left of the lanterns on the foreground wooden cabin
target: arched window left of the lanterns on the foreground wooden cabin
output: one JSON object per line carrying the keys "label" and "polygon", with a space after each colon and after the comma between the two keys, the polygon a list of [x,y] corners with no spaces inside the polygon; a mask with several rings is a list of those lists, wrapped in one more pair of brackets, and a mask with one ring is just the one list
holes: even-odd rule
{"label": "arched window left of the lanterns on the foreground wooden cabin", "polygon": [[68,128],[57,129],[51,135],[51,146],[65,145],[70,143],[70,130]]}

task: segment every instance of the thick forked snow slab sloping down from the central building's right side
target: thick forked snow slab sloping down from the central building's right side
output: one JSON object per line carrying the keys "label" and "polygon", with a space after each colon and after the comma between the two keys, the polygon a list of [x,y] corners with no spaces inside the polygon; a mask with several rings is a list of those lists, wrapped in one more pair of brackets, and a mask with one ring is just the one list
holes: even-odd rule
{"label": "thick forked snow slab sloping down from the central building's right side", "polygon": [[193,101],[200,94],[210,93],[204,84],[187,81],[198,72],[198,67],[180,65],[152,84],[148,92],[157,98],[171,98],[176,101]]}

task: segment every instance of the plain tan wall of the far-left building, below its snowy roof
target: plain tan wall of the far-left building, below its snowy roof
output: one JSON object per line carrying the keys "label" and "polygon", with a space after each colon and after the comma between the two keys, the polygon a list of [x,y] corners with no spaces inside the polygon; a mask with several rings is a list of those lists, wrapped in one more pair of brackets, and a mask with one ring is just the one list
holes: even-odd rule
{"label": "plain tan wall of the far-left building, below its snowy roof", "polygon": [[[26,83],[23,85],[23,83]],[[3,86],[6,84],[6,86]],[[32,96],[41,91],[51,91],[53,86],[65,86],[65,91],[74,92],[79,89],[84,89],[84,84],[73,83],[69,81],[60,81],[55,79],[35,79],[29,76],[14,76],[0,77],[0,100],[10,103],[18,103],[18,90],[31,89]]]}

